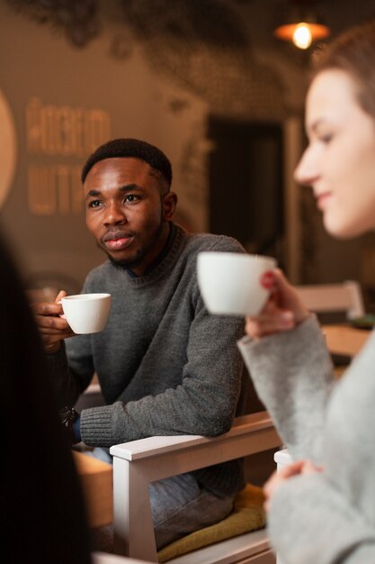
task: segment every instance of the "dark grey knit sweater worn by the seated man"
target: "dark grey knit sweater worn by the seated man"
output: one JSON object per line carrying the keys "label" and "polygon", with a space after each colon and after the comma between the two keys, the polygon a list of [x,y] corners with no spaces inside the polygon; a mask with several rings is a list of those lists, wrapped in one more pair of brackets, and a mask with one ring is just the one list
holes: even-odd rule
{"label": "dark grey knit sweater worn by the seated man", "polygon": [[[108,261],[86,278],[85,293],[112,294],[109,322],[101,333],[67,340],[67,355],[62,347],[49,358],[59,397],[69,405],[94,372],[98,375],[107,405],[82,412],[85,444],[215,436],[227,432],[241,413],[243,361],[237,340],[244,323],[207,312],[196,277],[201,250],[244,252],[234,239],[188,234],[176,226],[167,255],[146,276],[132,277]],[[244,486],[236,460],[197,476],[219,495]]]}

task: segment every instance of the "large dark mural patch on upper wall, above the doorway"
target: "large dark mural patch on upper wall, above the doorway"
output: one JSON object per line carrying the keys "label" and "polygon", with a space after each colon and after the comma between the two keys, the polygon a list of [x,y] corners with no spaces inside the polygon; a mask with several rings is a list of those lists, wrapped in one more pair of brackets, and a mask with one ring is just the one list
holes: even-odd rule
{"label": "large dark mural patch on upper wall, above the doorway", "polygon": [[157,71],[200,96],[212,114],[281,121],[281,77],[259,64],[233,2],[122,0],[126,21]]}

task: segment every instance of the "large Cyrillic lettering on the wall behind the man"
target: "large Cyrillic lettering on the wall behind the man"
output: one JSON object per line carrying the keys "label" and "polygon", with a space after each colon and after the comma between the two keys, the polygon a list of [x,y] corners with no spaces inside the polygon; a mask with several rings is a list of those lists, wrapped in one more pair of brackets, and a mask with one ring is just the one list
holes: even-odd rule
{"label": "large Cyrillic lettering on the wall behind the man", "polygon": [[[31,214],[82,212],[83,156],[111,137],[111,119],[100,108],[43,104],[34,97],[26,105],[28,205]],[[41,161],[46,156],[49,164]],[[69,162],[61,158],[69,158]]]}

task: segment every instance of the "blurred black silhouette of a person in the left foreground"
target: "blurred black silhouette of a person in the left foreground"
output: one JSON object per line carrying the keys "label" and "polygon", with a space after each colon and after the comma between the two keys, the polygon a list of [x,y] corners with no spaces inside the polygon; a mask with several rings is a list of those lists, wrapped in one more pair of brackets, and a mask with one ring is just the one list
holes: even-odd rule
{"label": "blurred black silhouette of a person in the left foreground", "polygon": [[2,562],[89,564],[85,506],[40,334],[0,242]]}

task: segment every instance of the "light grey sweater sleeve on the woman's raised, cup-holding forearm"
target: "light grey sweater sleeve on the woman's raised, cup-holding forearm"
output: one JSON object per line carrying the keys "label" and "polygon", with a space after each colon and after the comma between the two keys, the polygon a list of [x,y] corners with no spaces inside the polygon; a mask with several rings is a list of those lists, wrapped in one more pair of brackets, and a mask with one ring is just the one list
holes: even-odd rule
{"label": "light grey sweater sleeve on the woman's raised, cup-holding forearm", "polygon": [[291,332],[244,337],[238,346],[292,458],[319,462],[333,367],[316,317]]}

